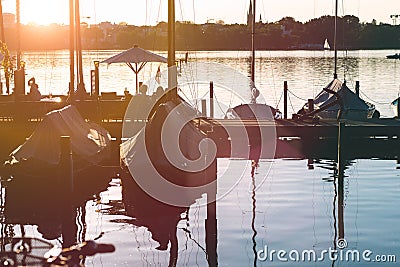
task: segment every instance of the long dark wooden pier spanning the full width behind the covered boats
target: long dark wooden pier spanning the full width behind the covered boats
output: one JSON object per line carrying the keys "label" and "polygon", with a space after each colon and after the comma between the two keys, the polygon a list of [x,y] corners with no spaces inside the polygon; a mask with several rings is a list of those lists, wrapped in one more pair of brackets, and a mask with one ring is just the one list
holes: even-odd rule
{"label": "long dark wooden pier spanning the full width behind the covered boats", "polygon": [[[132,100],[131,100],[132,99]],[[148,101],[150,97],[147,98]],[[113,137],[113,146],[118,152],[122,140],[122,128],[140,129],[147,120],[148,109],[139,108],[140,114],[135,118],[125,117],[129,102],[133,106],[144,106],[143,96],[114,96],[111,99],[75,101],[74,105],[86,120],[94,121],[107,129]],[[0,142],[2,155],[7,156],[19,144],[25,141],[34,131],[43,116],[55,109],[67,105],[62,102],[43,101],[0,101]],[[344,140],[349,143],[350,151],[369,157],[377,151],[380,154],[400,154],[400,120],[397,118],[369,119],[366,121],[343,120]],[[254,121],[234,119],[198,118],[193,123],[207,134],[217,145],[217,157],[231,157],[232,137],[239,143],[248,137],[250,146],[260,142],[261,133],[271,133],[276,138],[275,157],[308,157],[313,154],[324,154],[327,150],[336,150],[339,123],[337,120],[294,120],[280,119],[275,121]],[[243,131],[245,129],[245,134]],[[242,140],[240,140],[242,138]],[[261,155],[268,155],[260,151]],[[332,153],[336,155],[336,151]],[[234,155],[248,158],[246,153]],[[119,162],[115,153],[112,161]]]}

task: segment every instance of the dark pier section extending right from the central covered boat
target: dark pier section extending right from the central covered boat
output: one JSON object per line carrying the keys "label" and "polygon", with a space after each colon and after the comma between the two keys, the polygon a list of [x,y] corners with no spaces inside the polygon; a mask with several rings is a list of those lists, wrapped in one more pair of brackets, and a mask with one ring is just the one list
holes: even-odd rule
{"label": "dark pier section extending right from the central covered boat", "polygon": [[[260,146],[261,133],[276,138],[275,158],[312,157],[325,155],[336,158],[339,122],[337,120],[298,121],[282,119],[275,121],[242,121],[231,119],[199,119],[199,129],[207,133],[217,144],[217,157],[231,157],[232,133],[235,143]],[[377,157],[400,155],[400,120],[370,119],[367,121],[341,121],[342,142],[346,144],[349,157]],[[245,128],[247,135],[243,135]],[[241,131],[241,133],[238,133]],[[231,133],[231,134],[228,134]],[[268,136],[268,134],[267,134]],[[265,141],[265,140],[264,140]],[[271,155],[271,147],[261,145],[262,155]],[[374,156],[375,155],[375,156]],[[248,150],[239,158],[248,157]],[[269,156],[267,156],[269,158]]]}

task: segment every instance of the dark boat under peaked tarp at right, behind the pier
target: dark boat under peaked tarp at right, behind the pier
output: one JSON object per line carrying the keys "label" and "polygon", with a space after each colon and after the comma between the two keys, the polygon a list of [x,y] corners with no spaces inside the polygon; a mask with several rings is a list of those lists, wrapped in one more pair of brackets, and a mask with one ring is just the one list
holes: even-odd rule
{"label": "dark boat under peaked tarp at right, behind the pier", "polygon": [[[366,120],[379,117],[375,106],[351,91],[346,82],[334,79],[315,98],[314,107],[306,103],[298,112],[300,116],[317,115],[322,119]],[[314,110],[313,110],[314,109]]]}

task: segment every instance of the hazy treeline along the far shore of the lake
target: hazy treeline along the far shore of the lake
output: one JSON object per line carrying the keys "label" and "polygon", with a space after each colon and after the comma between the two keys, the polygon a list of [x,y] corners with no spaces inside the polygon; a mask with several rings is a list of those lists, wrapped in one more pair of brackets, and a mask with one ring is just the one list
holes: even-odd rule
{"label": "hazy treeline along the far shore of the lake", "polygon": [[[396,49],[400,47],[400,26],[361,23],[356,16],[339,17],[337,21],[338,49]],[[256,24],[256,49],[322,49],[325,39],[333,47],[335,19],[322,16],[302,23],[285,17],[273,23]],[[20,38],[15,28],[5,30],[6,43],[23,50],[68,49],[69,26],[22,25]],[[167,50],[168,25],[132,26],[100,23],[82,25],[83,49],[127,49],[137,44],[151,50]],[[177,50],[249,50],[251,29],[243,24],[176,23]]]}

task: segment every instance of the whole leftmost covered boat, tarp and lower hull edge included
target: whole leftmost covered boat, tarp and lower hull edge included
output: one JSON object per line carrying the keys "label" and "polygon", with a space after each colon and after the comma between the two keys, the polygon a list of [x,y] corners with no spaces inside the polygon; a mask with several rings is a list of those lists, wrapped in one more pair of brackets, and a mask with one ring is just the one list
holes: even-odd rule
{"label": "whole leftmost covered boat, tarp and lower hull edge included", "polygon": [[75,106],[68,105],[44,116],[32,135],[11,152],[2,174],[54,177],[61,161],[61,136],[70,136],[77,175],[82,172],[88,175],[88,171],[98,168],[98,164],[109,157],[111,136],[108,131],[85,121]]}

